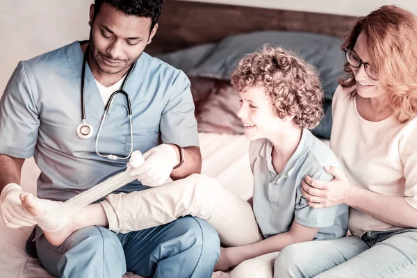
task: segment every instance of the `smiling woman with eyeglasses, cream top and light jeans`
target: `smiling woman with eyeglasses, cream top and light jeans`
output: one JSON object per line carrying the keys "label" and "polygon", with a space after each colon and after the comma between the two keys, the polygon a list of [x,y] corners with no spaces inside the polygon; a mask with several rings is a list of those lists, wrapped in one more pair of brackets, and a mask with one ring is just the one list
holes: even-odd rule
{"label": "smiling woman with eyeglasses, cream top and light jeans", "polygon": [[306,176],[302,193],[313,208],[350,206],[352,236],[286,247],[275,275],[417,277],[417,18],[382,6],[342,49],[330,147],[343,169]]}

